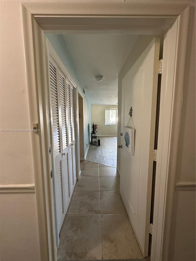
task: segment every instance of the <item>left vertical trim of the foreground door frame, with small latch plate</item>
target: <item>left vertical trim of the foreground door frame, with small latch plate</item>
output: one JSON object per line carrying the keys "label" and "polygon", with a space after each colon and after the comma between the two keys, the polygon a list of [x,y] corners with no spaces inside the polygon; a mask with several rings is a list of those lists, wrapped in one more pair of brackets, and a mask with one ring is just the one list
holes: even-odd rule
{"label": "left vertical trim of the foreground door frame, with small latch plate", "polygon": [[[35,177],[35,192],[36,192],[36,208],[37,208],[37,221],[38,221],[38,233],[40,242],[40,259],[41,260],[52,260],[51,258],[51,245],[53,244],[50,238],[51,229],[47,226],[51,214],[50,209],[50,196],[48,195],[48,169],[46,164],[47,155],[45,148],[45,136],[44,136],[44,115],[42,113],[42,92],[41,88],[38,88],[39,84],[43,84],[43,77],[40,76],[40,59],[39,53],[37,52],[36,57],[34,56],[34,50],[36,45],[39,43],[34,43],[33,30],[38,32],[38,26],[33,24],[32,13],[22,7],[22,22],[23,22],[23,36],[24,36],[24,47],[25,47],[25,63],[26,63],[26,75],[27,75],[27,88],[28,88],[28,104],[29,104],[29,117],[30,125],[34,122],[39,123],[39,133],[31,134],[32,141],[32,159]],[[42,46],[39,46],[39,50],[42,53]],[[40,73],[40,74],[39,74]],[[40,76],[40,77],[39,77]],[[38,98],[39,95],[39,98]],[[40,99],[40,100],[39,100]],[[49,151],[49,150],[48,150]],[[50,224],[51,225],[51,224]]]}

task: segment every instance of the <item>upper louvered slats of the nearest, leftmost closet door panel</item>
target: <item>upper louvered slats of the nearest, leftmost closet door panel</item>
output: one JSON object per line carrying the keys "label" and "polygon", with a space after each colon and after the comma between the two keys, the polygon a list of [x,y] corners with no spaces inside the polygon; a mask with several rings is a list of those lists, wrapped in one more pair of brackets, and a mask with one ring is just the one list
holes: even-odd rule
{"label": "upper louvered slats of the nearest, leftmost closet door panel", "polygon": [[60,129],[59,129],[59,113],[58,113],[58,91],[56,68],[49,62],[50,73],[50,94],[51,94],[51,110],[52,110],[52,134],[54,140],[54,157],[60,153]]}

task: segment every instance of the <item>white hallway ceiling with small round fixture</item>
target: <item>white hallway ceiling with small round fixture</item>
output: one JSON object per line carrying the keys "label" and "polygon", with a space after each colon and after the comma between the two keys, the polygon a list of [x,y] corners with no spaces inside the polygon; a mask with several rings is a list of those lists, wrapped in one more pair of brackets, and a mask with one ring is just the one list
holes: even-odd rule
{"label": "white hallway ceiling with small round fixture", "polygon": [[[118,103],[118,75],[138,35],[63,35],[91,104]],[[98,82],[96,75],[103,75]]]}

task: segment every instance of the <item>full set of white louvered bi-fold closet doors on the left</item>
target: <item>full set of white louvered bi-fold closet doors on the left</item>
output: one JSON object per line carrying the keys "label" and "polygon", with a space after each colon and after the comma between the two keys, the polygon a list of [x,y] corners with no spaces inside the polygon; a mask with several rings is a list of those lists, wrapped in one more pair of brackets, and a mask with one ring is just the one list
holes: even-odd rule
{"label": "full set of white louvered bi-fold closet doors on the left", "polygon": [[[71,85],[69,84],[68,90],[66,89],[66,76],[50,56],[49,74],[52,130],[51,145],[53,148],[55,205],[59,233],[77,181],[75,119],[73,109],[75,99],[73,96],[74,87],[70,87]],[[71,94],[69,96],[68,93],[70,93],[71,88],[73,88],[73,95]]]}

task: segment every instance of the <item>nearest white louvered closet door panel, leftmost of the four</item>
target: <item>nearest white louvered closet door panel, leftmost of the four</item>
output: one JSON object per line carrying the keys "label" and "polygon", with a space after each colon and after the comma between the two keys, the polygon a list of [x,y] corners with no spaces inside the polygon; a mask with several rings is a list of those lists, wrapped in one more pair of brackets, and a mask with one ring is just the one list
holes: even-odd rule
{"label": "nearest white louvered closet door panel, leftmost of the four", "polygon": [[[62,227],[65,218],[65,196],[64,196],[64,177],[62,162],[62,125],[60,117],[60,90],[58,80],[58,67],[49,57],[49,73],[50,73],[50,105],[51,105],[51,129],[52,129],[52,153],[53,153],[53,177],[55,182],[55,203],[57,212],[58,233]],[[63,132],[65,133],[65,132]],[[65,136],[65,134],[64,134]]]}

